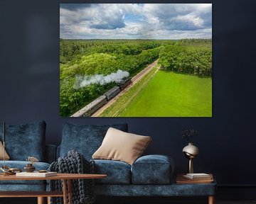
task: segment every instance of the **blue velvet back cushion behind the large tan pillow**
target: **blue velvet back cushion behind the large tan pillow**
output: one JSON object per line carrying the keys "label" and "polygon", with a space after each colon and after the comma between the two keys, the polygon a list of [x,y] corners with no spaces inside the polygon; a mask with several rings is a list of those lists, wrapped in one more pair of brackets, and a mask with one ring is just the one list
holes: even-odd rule
{"label": "blue velvet back cushion behind the large tan pillow", "polygon": [[63,137],[60,144],[60,157],[66,157],[68,151],[80,152],[85,159],[92,159],[92,154],[100,147],[107,130],[112,127],[128,131],[127,123],[114,125],[63,125]]}

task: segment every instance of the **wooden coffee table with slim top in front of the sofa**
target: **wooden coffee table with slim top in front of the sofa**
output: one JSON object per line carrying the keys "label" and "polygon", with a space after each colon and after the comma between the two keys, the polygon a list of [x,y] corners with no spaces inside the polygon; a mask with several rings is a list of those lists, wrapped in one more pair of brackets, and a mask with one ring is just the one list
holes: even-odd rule
{"label": "wooden coffee table with slim top in front of the sofa", "polygon": [[[48,197],[48,203],[51,197],[63,197],[64,204],[72,204],[72,182],[73,179],[102,179],[105,174],[57,174],[50,177],[18,177],[15,175],[0,176],[3,181],[17,180],[62,180],[63,191],[0,191],[0,198],[21,198],[21,197],[37,197],[38,204],[44,203],[44,198]],[[67,183],[68,182],[68,186]],[[67,195],[68,194],[68,198]],[[69,201],[69,202],[68,202]]]}

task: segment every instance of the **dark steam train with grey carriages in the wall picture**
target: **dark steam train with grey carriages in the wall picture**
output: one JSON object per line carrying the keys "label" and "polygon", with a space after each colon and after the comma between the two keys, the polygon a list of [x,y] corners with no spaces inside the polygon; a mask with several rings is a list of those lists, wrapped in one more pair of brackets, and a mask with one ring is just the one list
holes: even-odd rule
{"label": "dark steam train with grey carriages in the wall picture", "polygon": [[110,101],[114,96],[120,93],[126,86],[132,83],[131,77],[122,79],[117,86],[114,86],[109,91],[105,92],[102,96],[96,98],[91,103],[87,104],[87,106],[80,109],[78,112],[74,113],[70,117],[89,117],[92,113],[95,113],[99,108],[104,106],[107,101]]}

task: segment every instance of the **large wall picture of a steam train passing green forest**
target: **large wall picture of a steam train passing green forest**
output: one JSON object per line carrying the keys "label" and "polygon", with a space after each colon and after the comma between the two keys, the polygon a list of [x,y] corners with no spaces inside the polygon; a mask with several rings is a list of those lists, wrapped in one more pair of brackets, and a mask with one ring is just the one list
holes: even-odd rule
{"label": "large wall picture of a steam train passing green forest", "polygon": [[212,117],[212,4],[60,4],[61,117]]}

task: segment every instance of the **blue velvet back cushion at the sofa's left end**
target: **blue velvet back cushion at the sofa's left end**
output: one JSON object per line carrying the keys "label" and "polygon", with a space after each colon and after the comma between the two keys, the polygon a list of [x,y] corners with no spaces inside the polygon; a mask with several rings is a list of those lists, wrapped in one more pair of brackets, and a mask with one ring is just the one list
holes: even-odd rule
{"label": "blue velvet back cushion at the sofa's left end", "polygon": [[[0,130],[3,125],[0,125]],[[3,140],[2,131],[0,138]],[[38,121],[21,125],[6,125],[6,152],[11,160],[25,161],[32,156],[44,161],[46,122]]]}

